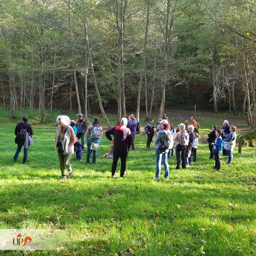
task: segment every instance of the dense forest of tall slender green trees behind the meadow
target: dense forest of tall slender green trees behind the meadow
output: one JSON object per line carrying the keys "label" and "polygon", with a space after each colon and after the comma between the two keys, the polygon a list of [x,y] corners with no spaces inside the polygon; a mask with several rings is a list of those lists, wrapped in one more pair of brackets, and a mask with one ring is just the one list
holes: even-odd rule
{"label": "dense forest of tall slender green trees behind the meadow", "polygon": [[147,118],[229,110],[255,127],[255,1],[2,0],[0,104]]}

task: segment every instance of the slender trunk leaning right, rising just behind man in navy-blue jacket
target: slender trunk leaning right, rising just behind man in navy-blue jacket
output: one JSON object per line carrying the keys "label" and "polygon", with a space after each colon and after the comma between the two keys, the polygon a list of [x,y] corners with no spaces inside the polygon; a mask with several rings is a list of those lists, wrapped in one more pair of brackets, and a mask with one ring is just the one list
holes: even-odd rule
{"label": "slender trunk leaning right, rising just behind man in navy-blue jacket", "polygon": [[138,96],[137,96],[137,111],[136,111],[136,118],[138,122],[140,122],[140,99],[141,99],[141,87],[142,87],[142,78],[143,73],[145,72],[145,63],[146,63],[146,46],[147,46],[147,34],[148,34],[148,24],[149,24],[149,10],[150,10],[150,2],[147,4],[147,21],[146,21],[146,29],[145,29],[145,36],[144,36],[144,46],[143,46],[143,58],[142,58],[142,67],[141,74],[140,74],[140,81],[139,81],[139,88],[138,88]]}

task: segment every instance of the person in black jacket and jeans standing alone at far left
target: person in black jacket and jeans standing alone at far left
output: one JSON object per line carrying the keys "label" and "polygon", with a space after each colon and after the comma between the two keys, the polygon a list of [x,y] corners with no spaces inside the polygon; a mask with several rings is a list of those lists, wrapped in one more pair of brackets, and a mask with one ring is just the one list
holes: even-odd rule
{"label": "person in black jacket and jeans standing alone at far left", "polygon": [[[28,122],[28,118],[27,116],[23,116],[22,117],[22,122],[21,123],[17,123],[16,127],[15,127],[15,135],[17,136],[20,132],[21,129],[26,129],[28,135],[31,137],[31,139],[33,138],[33,130],[30,124],[27,123]],[[17,162],[17,159],[19,157],[19,153],[21,151],[22,146],[24,145],[25,140],[18,140],[18,146],[17,146],[17,150],[16,153],[13,157],[13,161]],[[23,157],[23,164],[27,163],[27,159],[28,159],[28,147],[25,148],[24,147],[24,157]]]}

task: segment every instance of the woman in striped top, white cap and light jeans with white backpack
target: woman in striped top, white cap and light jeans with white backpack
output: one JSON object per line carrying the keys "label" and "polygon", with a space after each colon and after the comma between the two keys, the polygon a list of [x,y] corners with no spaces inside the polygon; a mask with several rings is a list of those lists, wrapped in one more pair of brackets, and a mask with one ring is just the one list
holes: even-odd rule
{"label": "woman in striped top, white cap and light jeans with white backpack", "polygon": [[155,157],[156,157],[156,174],[155,174],[154,179],[158,179],[160,177],[161,161],[163,162],[163,165],[164,165],[164,177],[162,177],[162,178],[169,179],[169,165],[168,165],[168,162],[167,162],[168,150],[166,150],[165,152],[158,150],[159,146],[161,146],[162,143],[164,143],[164,138],[165,138],[166,133],[170,134],[169,124],[168,124],[168,121],[166,119],[161,121],[160,124],[161,124],[162,130],[160,130],[157,133],[157,136],[154,140],[154,143],[155,143]]}

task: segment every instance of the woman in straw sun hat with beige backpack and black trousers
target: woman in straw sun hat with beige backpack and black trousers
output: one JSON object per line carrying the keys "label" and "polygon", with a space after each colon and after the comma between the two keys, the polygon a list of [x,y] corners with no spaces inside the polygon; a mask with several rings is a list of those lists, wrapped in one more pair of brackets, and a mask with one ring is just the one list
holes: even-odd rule
{"label": "woman in straw sun hat with beige backpack and black trousers", "polygon": [[183,123],[180,123],[178,125],[178,128],[179,128],[179,132],[177,132],[176,136],[173,139],[173,141],[176,141],[176,147],[175,147],[175,154],[177,159],[176,169],[180,168],[180,160],[182,161],[182,169],[186,169],[185,152],[186,152],[187,146],[180,145],[182,133],[187,134],[186,125]]}

